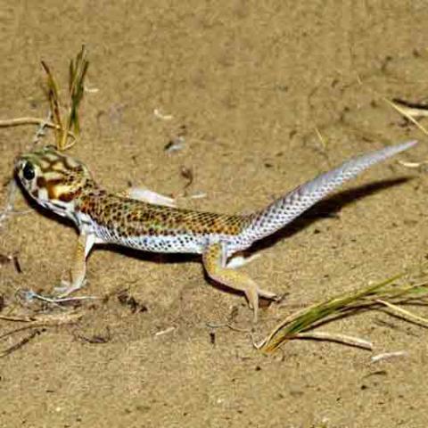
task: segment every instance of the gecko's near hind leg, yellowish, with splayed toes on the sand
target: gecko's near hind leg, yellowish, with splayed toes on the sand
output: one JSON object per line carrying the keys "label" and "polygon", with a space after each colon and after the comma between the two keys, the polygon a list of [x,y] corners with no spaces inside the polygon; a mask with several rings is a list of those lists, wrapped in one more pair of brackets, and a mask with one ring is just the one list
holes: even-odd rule
{"label": "gecko's near hind leg, yellowish, with splayed toes on the sand", "polygon": [[202,254],[202,263],[207,275],[220,284],[226,285],[234,290],[244,292],[253,310],[253,322],[257,322],[259,311],[259,296],[266,299],[275,299],[275,292],[262,290],[243,272],[226,268],[225,247],[221,243],[212,243]]}

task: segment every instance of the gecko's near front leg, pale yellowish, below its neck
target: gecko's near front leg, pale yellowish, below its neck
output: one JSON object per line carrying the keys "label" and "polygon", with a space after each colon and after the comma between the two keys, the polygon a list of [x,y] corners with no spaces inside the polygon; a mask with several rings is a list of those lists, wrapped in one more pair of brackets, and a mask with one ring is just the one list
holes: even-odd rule
{"label": "gecko's near front leg, pale yellowish, below its neck", "polygon": [[86,257],[89,251],[91,251],[94,243],[94,234],[87,234],[83,231],[80,232],[72,266],[70,268],[70,281],[62,280],[62,286],[55,287],[54,290],[59,294],[59,297],[68,296],[71,292],[75,292],[85,284]]}

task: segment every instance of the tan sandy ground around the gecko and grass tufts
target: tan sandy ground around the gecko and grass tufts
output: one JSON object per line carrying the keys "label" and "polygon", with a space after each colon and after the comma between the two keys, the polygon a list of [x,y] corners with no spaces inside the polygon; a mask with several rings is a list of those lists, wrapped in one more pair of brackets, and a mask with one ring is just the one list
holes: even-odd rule
{"label": "tan sandy ground around the gecko and grass tufts", "polygon": [[[0,118],[45,117],[39,61],[65,87],[67,64],[85,43],[93,91],[72,153],[97,179],[177,195],[184,167],[193,171],[188,193],[207,197],[182,206],[249,212],[359,152],[418,138],[399,159],[427,158],[424,135],[383,102],[427,99],[426,5],[2,0]],[[0,129],[2,182],[34,132]],[[177,136],[184,149],[166,152]],[[245,270],[288,295],[261,310],[257,334],[424,259],[427,192],[424,171],[389,161],[260,245]],[[16,205],[29,208],[21,193]],[[17,290],[50,292],[70,264],[74,228],[30,210],[0,230],[0,253],[21,264],[21,273],[0,266],[0,315],[16,309]],[[123,291],[128,298],[119,299]],[[40,327],[0,359],[0,426],[428,426],[420,327],[366,313],[328,330],[374,342],[373,353],[295,341],[265,356],[248,334],[207,326],[232,311],[248,326],[251,311],[242,296],[208,284],[197,258],[108,248],[91,255],[85,292],[103,300],[86,305],[78,324]],[[3,320],[0,333],[17,326]],[[3,338],[1,350],[29,333]],[[397,350],[407,357],[370,363]]]}

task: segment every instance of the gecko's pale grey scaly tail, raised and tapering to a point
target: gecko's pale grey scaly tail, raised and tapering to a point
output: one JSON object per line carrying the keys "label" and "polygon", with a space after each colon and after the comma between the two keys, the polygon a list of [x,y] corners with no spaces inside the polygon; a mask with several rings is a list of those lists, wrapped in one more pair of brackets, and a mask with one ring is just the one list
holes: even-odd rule
{"label": "gecko's pale grey scaly tail, raised and tapering to a point", "polygon": [[268,205],[265,210],[251,215],[251,221],[245,227],[243,234],[251,242],[273,234],[346,181],[357,177],[359,173],[375,163],[382,162],[399,152],[404,152],[416,143],[416,141],[408,141],[407,143],[391,145],[376,152],[360,155],[344,162],[341,166],[331,171],[321,174],[304,185],[296,187],[292,192],[285,194]]}

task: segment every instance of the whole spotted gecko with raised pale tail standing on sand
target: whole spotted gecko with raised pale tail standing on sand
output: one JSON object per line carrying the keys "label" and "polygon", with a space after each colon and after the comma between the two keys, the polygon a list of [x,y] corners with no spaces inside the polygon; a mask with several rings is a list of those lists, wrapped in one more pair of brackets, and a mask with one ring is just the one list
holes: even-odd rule
{"label": "whole spotted gecko with raised pale tail standing on sand", "polygon": [[275,300],[277,294],[260,288],[237,269],[243,260],[233,263],[233,256],[282,229],[363,170],[415,144],[409,141],[359,155],[248,215],[177,208],[173,200],[149,190],[131,188],[110,193],[97,184],[85,163],[52,145],[18,156],[14,172],[30,198],[77,226],[70,281],[62,282],[61,296],[85,284],[86,258],[97,243],[142,251],[193,253],[202,256],[203,268],[212,280],[243,292],[255,323],[259,297]]}

